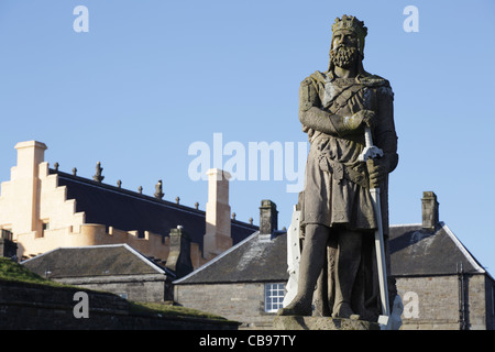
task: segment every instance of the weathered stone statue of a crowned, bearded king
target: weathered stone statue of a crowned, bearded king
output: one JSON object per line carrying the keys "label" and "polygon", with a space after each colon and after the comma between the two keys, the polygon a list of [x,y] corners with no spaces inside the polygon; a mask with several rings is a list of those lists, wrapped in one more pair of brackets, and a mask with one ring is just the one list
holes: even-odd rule
{"label": "weathered stone statue of a crowned, bearded king", "polygon": [[[370,188],[380,187],[386,262],[388,174],[398,163],[389,82],[363,68],[367,29],[354,16],[332,24],[330,65],[302,80],[299,120],[310,151],[299,195],[297,295],[278,315],[376,321],[381,314]],[[360,162],[370,128],[377,160]],[[396,296],[389,280],[389,300]]]}

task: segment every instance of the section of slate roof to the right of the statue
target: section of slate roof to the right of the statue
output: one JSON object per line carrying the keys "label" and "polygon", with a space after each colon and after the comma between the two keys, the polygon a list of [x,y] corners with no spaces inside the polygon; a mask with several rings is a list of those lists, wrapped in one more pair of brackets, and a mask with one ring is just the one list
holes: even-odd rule
{"label": "section of slate roof to the right of the statue", "polygon": [[464,273],[486,273],[443,222],[435,232],[421,224],[391,226],[389,248],[394,276],[457,274],[461,263]]}

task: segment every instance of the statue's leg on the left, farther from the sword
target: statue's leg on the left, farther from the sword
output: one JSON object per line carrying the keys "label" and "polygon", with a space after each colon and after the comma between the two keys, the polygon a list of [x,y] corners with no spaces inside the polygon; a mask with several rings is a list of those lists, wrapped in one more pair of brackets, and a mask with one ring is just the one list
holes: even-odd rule
{"label": "statue's leg on the left, farther from the sword", "polygon": [[327,255],[330,229],[320,224],[307,224],[305,242],[299,262],[297,295],[293,301],[279,310],[285,316],[310,316],[312,294]]}

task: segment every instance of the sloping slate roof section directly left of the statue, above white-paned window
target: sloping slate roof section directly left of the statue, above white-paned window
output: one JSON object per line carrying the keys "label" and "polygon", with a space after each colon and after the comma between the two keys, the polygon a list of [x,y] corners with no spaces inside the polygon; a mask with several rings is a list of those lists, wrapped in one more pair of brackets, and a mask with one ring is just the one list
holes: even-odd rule
{"label": "sloping slate roof section directly left of the statue, above white-paned window", "polygon": [[253,233],[174,284],[282,282],[288,279],[287,235]]}

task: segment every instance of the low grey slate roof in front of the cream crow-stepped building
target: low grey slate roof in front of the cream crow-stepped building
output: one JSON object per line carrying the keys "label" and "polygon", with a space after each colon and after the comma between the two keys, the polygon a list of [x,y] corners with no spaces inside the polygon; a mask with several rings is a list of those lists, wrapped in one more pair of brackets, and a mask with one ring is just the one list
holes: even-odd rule
{"label": "low grey slate roof in front of the cream crow-stepped building", "polygon": [[30,271],[50,278],[116,275],[175,275],[153,263],[128,244],[58,248],[21,263]]}

